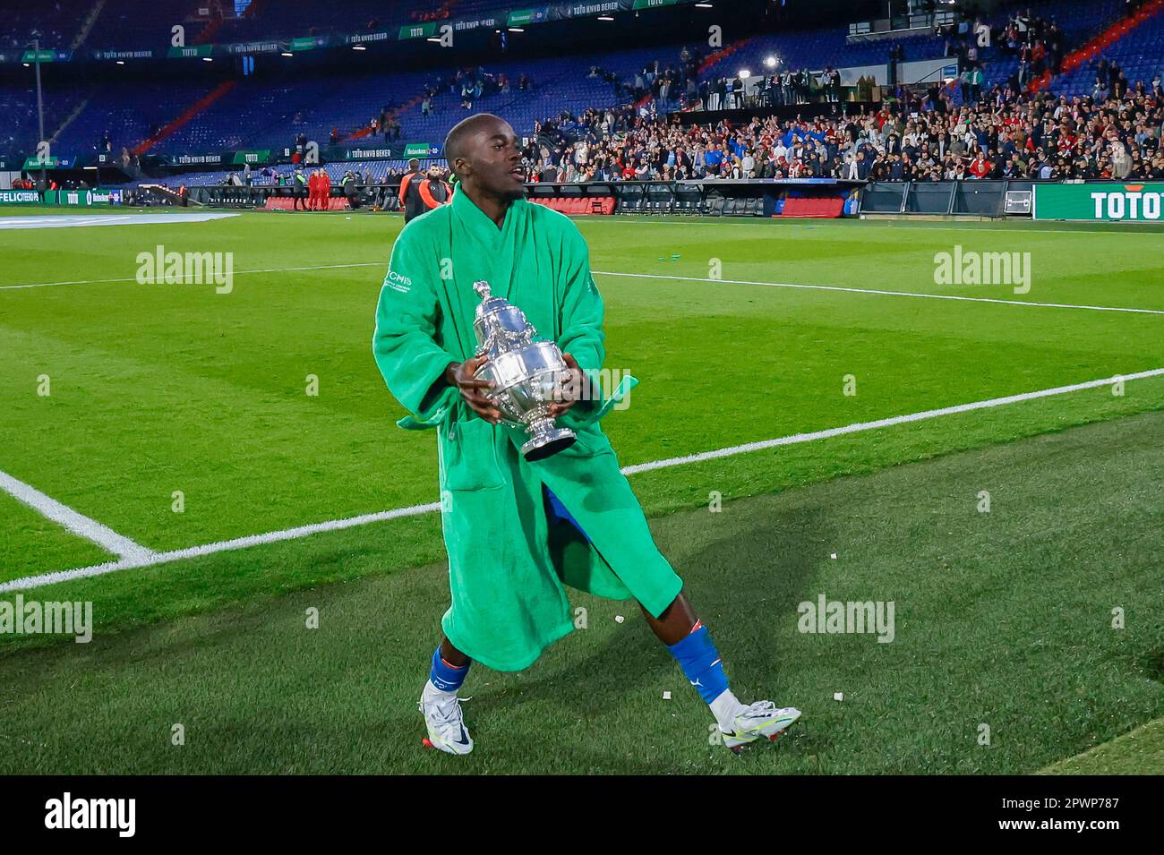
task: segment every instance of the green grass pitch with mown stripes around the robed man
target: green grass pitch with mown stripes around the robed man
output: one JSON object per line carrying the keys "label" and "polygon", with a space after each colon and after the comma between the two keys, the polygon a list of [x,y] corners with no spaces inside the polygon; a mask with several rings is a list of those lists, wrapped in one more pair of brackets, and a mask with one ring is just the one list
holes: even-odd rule
{"label": "green grass pitch with mown stripes around the robed man", "polygon": [[[370,354],[399,226],[247,214],[0,230],[0,471],[154,550],[434,501],[433,437],[393,427]],[[624,465],[1164,368],[1164,314],[723,282],[1164,312],[1157,230],[580,227],[608,366],[643,380],[604,421]],[[233,291],[137,285],[137,254],[159,244],[234,252]],[[1029,293],[936,285],[935,254],[956,244],[1029,251]],[[95,636],[0,635],[0,741],[15,749],[0,768],[1043,769],[1164,714],[1164,377],[1119,391],[631,476],[740,693],[805,711],[740,762],[707,744],[705,708],[632,604],[581,596],[584,632],[527,672],[470,677],[467,763],[420,753],[414,696],[447,605],[430,513],[26,591],[92,600]],[[3,493],[0,512],[0,582],[113,557]],[[894,642],[797,632],[797,604],[819,593],[894,600]],[[1136,756],[1129,770],[1158,767]]]}

